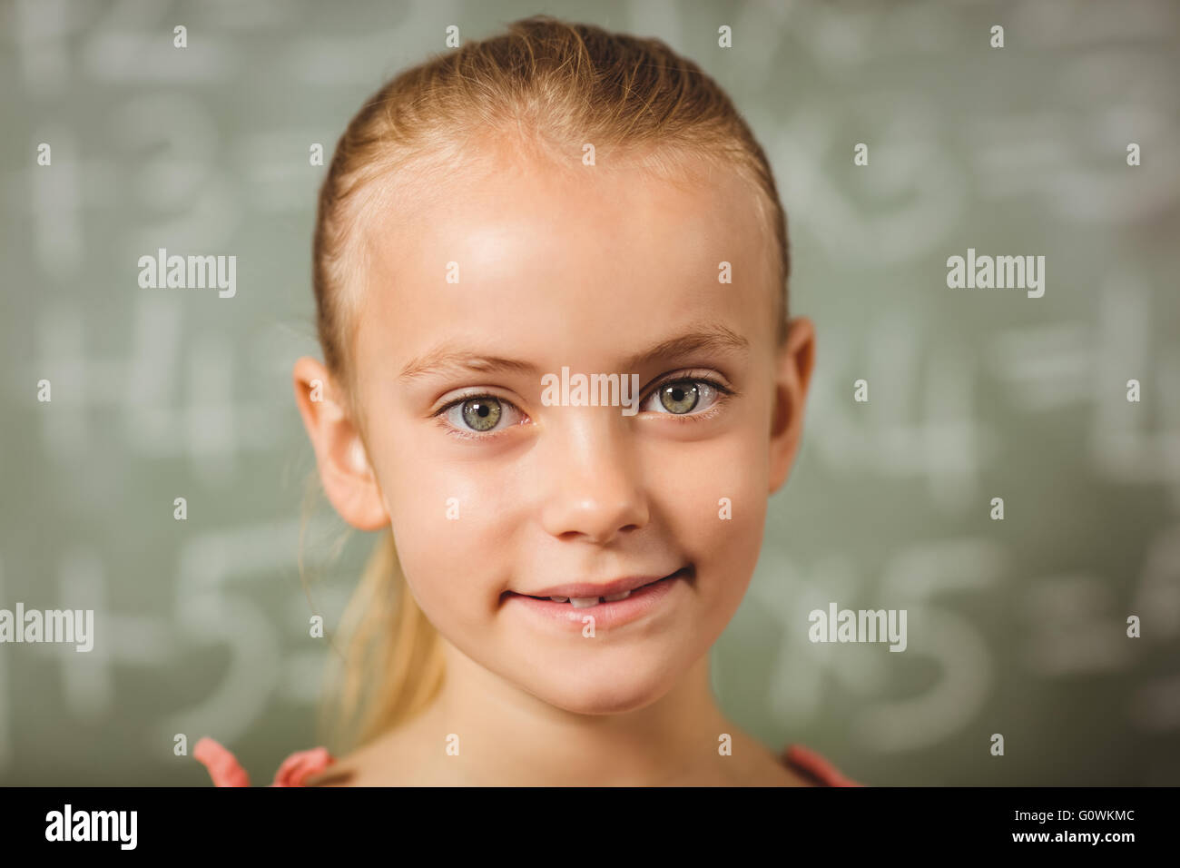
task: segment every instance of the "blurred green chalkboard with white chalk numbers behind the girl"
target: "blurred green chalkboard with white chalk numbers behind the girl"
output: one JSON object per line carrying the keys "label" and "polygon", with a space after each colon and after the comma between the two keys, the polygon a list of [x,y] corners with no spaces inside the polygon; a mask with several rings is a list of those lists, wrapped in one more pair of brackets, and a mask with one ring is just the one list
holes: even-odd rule
{"label": "blurred green chalkboard with white chalk numbers behind the girl", "polygon": [[[342,539],[321,496],[304,590],[309,149],[330,156],[448,25],[476,39],[536,11],[0,9],[0,608],[92,609],[96,637],[0,645],[0,782],[206,784],[177,733],[268,778],[320,743],[308,618],[339,618],[372,540]],[[817,368],[713,652],[727,713],[868,784],[1180,782],[1180,8],[546,11],[700,63],[787,210]],[[232,298],[144,286],[160,248],[234,255]],[[1029,286],[952,286],[955,256],[1031,257]],[[905,653],[809,641],[833,602],[905,608]]]}

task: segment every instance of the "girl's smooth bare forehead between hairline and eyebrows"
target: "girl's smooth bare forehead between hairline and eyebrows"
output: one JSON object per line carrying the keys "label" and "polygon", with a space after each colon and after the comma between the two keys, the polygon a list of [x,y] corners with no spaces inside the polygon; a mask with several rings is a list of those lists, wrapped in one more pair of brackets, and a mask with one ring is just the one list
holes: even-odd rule
{"label": "girl's smooth bare forehead between hairline and eyebrows", "polygon": [[[360,374],[441,340],[610,370],[677,324],[773,331],[775,252],[755,190],[732,170],[668,181],[491,159],[374,209],[362,231]],[[721,262],[733,282],[719,281]]]}

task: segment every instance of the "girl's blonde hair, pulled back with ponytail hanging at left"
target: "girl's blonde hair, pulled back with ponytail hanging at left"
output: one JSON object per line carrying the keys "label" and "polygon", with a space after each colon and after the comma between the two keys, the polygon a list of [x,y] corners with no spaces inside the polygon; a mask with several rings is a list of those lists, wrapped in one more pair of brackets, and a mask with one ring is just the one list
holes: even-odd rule
{"label": "girl's blonde hair, pulled back with ponytail hanging at left", "polygon": [[[729,97],[657,39],[535,15],[404,71],[365,103],[336,144],[313,243],[316,326],[324,364],[342,384],[362,439],[363,407],[347,352],[367,265],[362,217],[395,201],[412,209],[448,167],[472,164],[470,143],[497,138],[514,154],[578,168],[583,144],[594,143],[596,162],[677,184],[702,163],[736,169],[758,194],[759,218],[775,248],[776,340],[785,340],[786,214],[766,155]],[[406,191],[411,175],[426,182],[415,195]],[[430,705],[442,684],[441,646],[406,586],[388,528],[341,634],[347,646],[333,709],[346,738],[365,744]]]}

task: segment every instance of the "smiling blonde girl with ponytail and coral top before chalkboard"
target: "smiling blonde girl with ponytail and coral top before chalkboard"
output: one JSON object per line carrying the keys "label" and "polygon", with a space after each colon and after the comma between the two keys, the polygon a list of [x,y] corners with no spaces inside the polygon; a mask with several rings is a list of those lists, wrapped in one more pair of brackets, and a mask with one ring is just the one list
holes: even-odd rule
{"label": "smiling blonde girl with ponytail and coral top before chalkboard", "polygon": [[324,361],[294,371],[327,497],[381,533],[345,618],[360,746],[275,784],[851,784],[709,681],[802,435],[788,275],[762,149],[658,40],[536,17],[382,87],[320,194]]}

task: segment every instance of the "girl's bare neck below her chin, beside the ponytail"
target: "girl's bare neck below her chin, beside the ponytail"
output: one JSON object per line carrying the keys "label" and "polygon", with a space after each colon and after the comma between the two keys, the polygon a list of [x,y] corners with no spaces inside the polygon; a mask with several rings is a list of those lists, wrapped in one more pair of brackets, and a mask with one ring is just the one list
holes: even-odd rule
{"label": "girl's bare neck below her chin, beside the ponytail", "polygon": [[[732,732],[713,697],[708,653],[668,693],[634,711],[558,709],[471,660],[445,639],[446,678],[414,722],[440,779],[474,785],[657,785],[716,763]],[[459,738],[458,756],[444,751]],[[435,740],[437,739],[437,740]]]}

